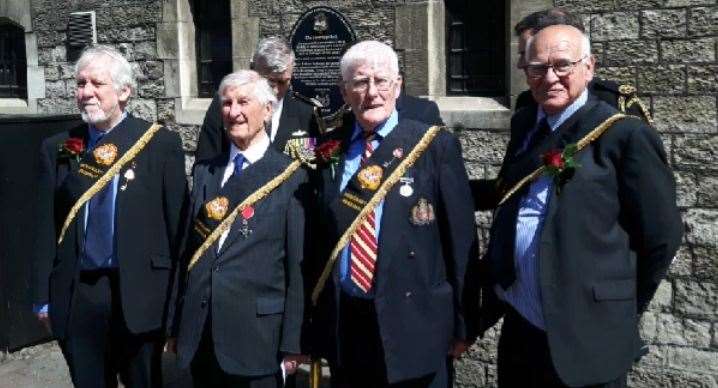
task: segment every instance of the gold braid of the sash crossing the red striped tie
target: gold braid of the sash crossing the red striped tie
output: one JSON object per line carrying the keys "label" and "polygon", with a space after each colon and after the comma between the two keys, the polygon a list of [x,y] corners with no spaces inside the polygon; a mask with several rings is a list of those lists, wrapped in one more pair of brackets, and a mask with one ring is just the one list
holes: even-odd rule
{"label": "gold braid of the sash crossing the red striped tie", "polygon": [[364,222],[366,217],[369,215],[369,212],[374,210],[374,208],[379,204],[379,202],[381,202],[381,200],[384,199],[384,197],[389,193],[389,190],[391,190],[391,188],[396,184],[396,182],[399,181],[399,178],[404,175],[406,170],[409,169],[409,167],[413,166],[414,162],[416,162],[416,160],[424,153],[424,151],[426,151],[426,148],[429,146],[429,144],[431,144],[431,141],[434,140],[434,137],[439,134],[440,130],[441,127],[435,125],[426,131],[424,136],[421,137],[421,140],[419,140],[416,146],[414,146],[411,152],[409,152],[409,155],[407,155],[407,157],[404,158],[401,163],[399,163],[394,172],[389,175],[388,178],[386,178],[386,180],[381,184],[381,186],[379,186],[371,199],[366,203],[366,205],[364,205],[364,207],[361,209],[361,211],[356,216],[351,225],[349,225],[349,228],[344,231],[342,236],[339,238],[339,241],[334,246],[331,255],[329,255],[329,261],[327,261],[327,264],[324,266],[324,270],[322,271],[322,274],[317,281],[317,285],[314,286],[314,291],[312,291],[312,304],[317,304],[319,294],[324,289],[324,285],[326,284],[327,279],[332,272],[332,268],[334,268],[334,263],[336,263],[337,261],[339,252],[341,252],[341,250],[344,249],[344,247],[349,243],[349,239],[351,239],[351,236],[354,234],[359,225]]}

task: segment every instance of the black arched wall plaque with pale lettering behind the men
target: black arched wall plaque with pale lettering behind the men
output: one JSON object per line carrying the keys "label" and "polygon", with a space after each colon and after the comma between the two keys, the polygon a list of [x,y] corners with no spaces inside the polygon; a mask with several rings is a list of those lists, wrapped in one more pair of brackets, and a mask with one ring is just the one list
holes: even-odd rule
{"label": "black arched wall plaque with pale lettering behind the men", "polygon": [[314,7],[302,14],[292,28],[290,43],[296,55],[292,88],[322,103],[322,115],[343,104],[337,86],[342,49],[356,40],[346,18],[335,9]]}

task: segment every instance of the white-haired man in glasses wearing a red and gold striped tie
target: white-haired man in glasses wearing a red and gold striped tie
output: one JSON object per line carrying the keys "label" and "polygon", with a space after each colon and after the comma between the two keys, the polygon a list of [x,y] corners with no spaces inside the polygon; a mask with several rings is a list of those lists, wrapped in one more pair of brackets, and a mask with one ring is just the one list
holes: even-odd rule
{"label": "white-haired man in glasses wearing a red and gold striped tie", "polygon": [[360,42],[340,70],[356,120],[317,148],[327,238],[312,293],[315,350],[334,386],[446,386],[447,355],[475,338],[477,307],[464,297],[477,241],[461,146],[399,117],[391,47]]}

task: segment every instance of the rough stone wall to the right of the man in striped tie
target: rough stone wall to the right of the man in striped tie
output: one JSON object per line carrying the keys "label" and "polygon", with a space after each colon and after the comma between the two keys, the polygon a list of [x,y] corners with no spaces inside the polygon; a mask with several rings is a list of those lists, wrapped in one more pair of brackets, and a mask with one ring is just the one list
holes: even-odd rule
{"label": "rough stone wall to the right of the man in striped tie", "polygon": [[[715,0],[557,0],[583,15],[598,75],[630,83],[651,107],[677,182],[684,243],[641,321],[650,345],[632,387],[718,386],[718,66]],[[506,136],[463,136],[477,175],[495,171]],[[482,245],[490,214],[478,216]],[[496,331],[457,365],[461,387],[495,385]]]}

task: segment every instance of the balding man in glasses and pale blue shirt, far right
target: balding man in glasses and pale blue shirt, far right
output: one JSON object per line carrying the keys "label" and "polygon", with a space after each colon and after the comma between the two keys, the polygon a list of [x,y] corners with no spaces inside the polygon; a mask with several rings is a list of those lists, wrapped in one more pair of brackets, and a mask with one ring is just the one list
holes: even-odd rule
{"label": "balding man in glasses and pale blue shirt, far right", "polygon": [[504,315],[500,387],[626,386],[680,243],[660,137],[587,90],[594,64],[575,27],[529,38],[537,105],[512,118],[484,257],[482,322]]}

